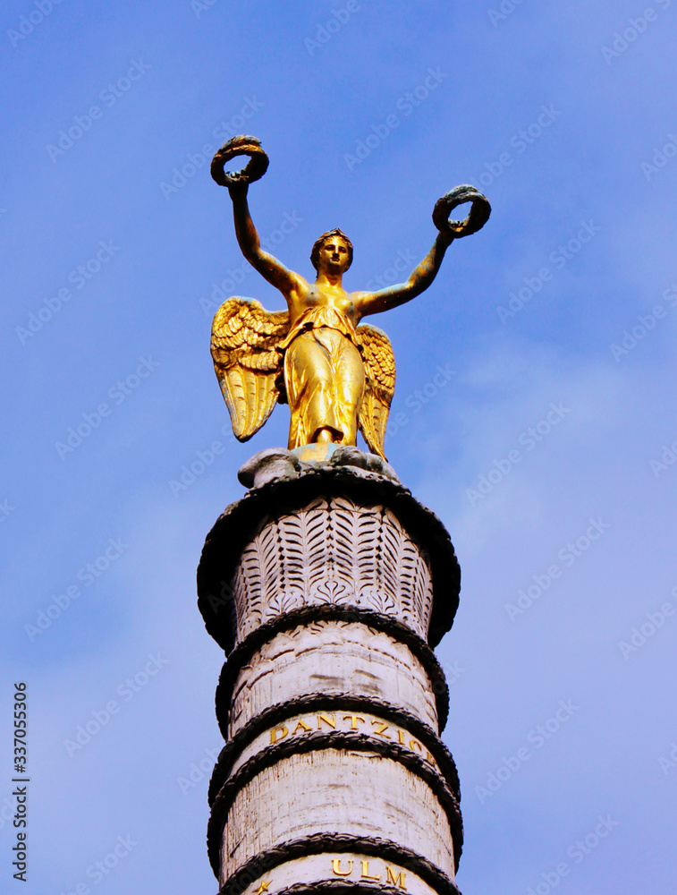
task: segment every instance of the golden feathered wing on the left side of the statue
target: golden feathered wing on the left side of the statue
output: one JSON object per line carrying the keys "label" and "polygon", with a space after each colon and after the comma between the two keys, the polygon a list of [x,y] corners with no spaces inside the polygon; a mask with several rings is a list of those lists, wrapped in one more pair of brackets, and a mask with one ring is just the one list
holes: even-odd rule
{"label": "golden feathered wing on the left side of the statue", "polygon": [[229,298],[214,315],[214,370],[239,441],[254,435],[275,407],[281,370],[277,345],[289,331],[287,311],[266,311],[254,299]]}

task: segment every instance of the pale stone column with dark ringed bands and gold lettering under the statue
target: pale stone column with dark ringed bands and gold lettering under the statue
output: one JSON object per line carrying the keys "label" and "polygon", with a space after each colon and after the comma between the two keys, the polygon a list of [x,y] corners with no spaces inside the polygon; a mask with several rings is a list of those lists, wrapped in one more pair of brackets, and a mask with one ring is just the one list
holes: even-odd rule
{"label": "pale stone column with dark ringed bands and gold lettering under the statue", "polygon": [[207,830],[221,891],[454,895],[460,796],[432,650],[458,606],[449,535],[354,447],[264,451],[241,481],[198,571],[226,653]]}

